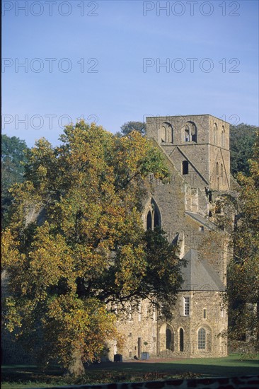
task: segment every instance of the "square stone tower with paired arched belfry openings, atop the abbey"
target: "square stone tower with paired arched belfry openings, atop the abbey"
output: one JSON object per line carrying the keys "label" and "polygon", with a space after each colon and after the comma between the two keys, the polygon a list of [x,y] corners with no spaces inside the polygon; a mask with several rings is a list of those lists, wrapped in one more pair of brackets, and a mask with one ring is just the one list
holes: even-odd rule
{"label": "square stone tower with paired arched belfry openings, atop the abbey", "polygon": [[212,115],[147,117],[147,137],[191,187],[230,189],[229,124]]}

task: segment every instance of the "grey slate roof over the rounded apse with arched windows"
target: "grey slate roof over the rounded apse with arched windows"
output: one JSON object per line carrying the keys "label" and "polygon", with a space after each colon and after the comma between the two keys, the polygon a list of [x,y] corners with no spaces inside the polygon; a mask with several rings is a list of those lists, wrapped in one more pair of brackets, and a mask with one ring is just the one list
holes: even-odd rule
{"label": "grey slate roof over the rounded apse with arched windows", "polygon": [[197,250],[190,249],[184,259],[182,291],[225,291],[219,275],[206,260],[200,260]]}

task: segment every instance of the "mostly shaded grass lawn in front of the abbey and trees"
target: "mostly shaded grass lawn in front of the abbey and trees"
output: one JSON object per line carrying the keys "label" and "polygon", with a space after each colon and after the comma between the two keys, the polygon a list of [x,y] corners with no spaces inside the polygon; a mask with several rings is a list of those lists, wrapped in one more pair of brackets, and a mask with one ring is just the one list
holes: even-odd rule
{"label": "mostly shaded grass lawn in front of the abbey and trees", "polygon": [[177,359],[165,362],[132,361],[91,365],[77,381],[63,376],[57,366],[42,371],[38,366],[2,366],[2,389],[48,388],[69,384],[154,381],[167,378],[246,376],[259,371],[257,359],[241,359],[238,354],[224,358]]}

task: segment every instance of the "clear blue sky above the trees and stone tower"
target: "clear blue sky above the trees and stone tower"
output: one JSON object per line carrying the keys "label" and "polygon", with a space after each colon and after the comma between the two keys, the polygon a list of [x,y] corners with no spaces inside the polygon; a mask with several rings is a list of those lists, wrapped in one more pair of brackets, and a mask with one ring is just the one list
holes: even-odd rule
{"label": "clear blue sky above the trees and stone tower", "polygon": [[6,0],[2,23],[2,131],[28,146],[79,117],[258,125],[258,1]]}

